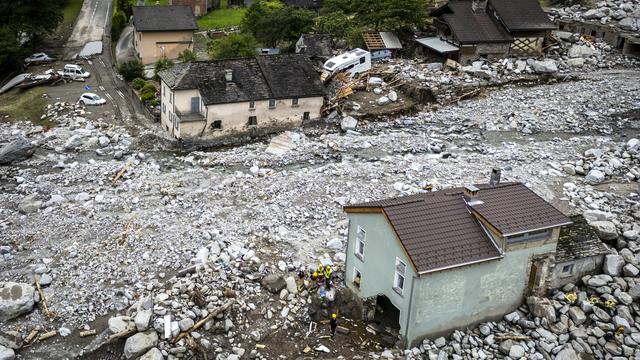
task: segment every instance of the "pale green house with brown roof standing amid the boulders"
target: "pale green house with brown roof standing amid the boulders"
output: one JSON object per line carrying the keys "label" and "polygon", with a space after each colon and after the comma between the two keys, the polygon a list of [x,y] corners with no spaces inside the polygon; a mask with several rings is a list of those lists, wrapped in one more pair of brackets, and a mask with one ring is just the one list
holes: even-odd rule
{"label": "pale green house with brown roof standing amid the boulders", "polygon": [[365,317],[406,345],[500,318],[544,290],[571,223],[525,185],[499,181],[344,210],[345,283],[371,305]]}

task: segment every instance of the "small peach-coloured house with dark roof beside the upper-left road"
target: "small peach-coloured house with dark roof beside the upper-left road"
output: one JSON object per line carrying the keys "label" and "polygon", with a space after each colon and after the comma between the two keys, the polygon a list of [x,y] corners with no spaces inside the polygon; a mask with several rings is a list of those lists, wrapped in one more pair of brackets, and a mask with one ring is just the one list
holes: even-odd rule
{"label": "small peach-coloured house with dark roof beside the upper-left road", "polygon": [[193,50],[193,31],[198,29],[191,7],[178,5],[135,6],[133,27],[133,45],[145,65]]}

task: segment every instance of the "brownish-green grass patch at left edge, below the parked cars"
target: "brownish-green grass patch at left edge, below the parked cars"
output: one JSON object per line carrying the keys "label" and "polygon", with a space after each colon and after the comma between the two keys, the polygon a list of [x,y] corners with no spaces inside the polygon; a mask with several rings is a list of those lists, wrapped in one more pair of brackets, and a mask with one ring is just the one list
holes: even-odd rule
{"label": "brownish-green grass patch at left edge, below the parked cars", "polygon": [[0,114],[9,115],[10,120],[29,120],[40,124],[40,116],[47,106],[43,86],[27,90],[13,89],[0,96]]}

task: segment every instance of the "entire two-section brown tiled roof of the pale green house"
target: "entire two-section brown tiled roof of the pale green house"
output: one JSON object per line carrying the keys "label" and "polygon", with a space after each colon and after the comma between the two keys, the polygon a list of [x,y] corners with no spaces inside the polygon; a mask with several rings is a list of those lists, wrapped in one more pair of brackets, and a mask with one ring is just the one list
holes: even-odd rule
{"label": "entire two-section brown tiled roof of the pale green house", "polygon": [[458,187],[345,206],[346,212],[382,212],[420,274],[498,259],[486,228],[511,236],[570,224],[521,183],[476,185],[473,201]]}

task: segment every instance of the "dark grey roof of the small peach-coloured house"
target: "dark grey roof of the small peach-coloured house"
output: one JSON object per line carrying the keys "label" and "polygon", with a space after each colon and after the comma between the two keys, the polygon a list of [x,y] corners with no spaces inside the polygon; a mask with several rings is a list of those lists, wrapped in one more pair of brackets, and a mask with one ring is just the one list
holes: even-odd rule
{"label": "dark grey roof of the small peach-coloured house", "polygon": [[190,6],[134,6],[133,26],[136,31],[197,30],[196,17]]}

